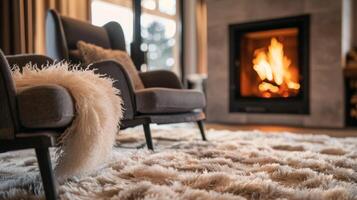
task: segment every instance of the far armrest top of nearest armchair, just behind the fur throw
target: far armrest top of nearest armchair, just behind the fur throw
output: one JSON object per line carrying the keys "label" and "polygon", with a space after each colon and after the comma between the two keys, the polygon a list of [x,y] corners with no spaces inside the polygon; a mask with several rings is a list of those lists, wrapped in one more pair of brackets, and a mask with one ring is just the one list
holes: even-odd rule
{"label": "far armrest top of nearest armchair, just behind the fur throw", "polygon": [[53,63],[53,60],[44,55],[37,54],[20,54],[20,55],[12,55],[6,56],[6,59],[10,66],[17,65],[22,69],[22,67],[26,66],[28,63],[32,63],[33,65],[41,66],[47,65],[49,63]]}

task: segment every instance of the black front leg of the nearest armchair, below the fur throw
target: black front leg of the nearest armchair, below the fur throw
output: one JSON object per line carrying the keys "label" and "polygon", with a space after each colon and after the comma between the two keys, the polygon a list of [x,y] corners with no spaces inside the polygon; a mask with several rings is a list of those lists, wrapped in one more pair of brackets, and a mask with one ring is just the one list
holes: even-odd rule
{"label": "black front leg of the nearest armchair, below the fur throw", "polygon": [[55,200],[57,199],[57,190],[48,148],[36,148],[36,157],[40,168],[46,199]]}

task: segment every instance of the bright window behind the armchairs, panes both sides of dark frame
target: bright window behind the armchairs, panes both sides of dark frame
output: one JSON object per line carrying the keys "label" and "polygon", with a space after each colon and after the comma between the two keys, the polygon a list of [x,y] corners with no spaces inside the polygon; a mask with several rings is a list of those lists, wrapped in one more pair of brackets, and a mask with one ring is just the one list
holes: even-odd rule
{"label": "bright window behind the armchairs, panes both sides of dark frame", "polygon": [[[141,0],[141,50],[146,52],[142,70],[180,70],[179,0]],[[92,0],[92,23],[102,26],[116,21],[125,35],[127,51],[133,41],[132,0]]]}

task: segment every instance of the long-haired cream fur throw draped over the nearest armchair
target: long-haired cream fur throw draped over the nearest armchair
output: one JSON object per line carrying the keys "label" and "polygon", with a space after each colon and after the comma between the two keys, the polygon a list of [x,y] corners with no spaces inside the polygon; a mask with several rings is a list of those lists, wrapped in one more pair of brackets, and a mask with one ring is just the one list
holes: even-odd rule
{"label": "long-haired cream fur throw draped over the nearest armchair", "polygon": [[13,78],[16,88],[61,85],[75,101],[75,119],[59,138],[56,151],[55,174],[60,181],[93,171],[110,157],[123,115],[113,80],[64,62],[41,68],[27,65],[22,72],[15,67]]}

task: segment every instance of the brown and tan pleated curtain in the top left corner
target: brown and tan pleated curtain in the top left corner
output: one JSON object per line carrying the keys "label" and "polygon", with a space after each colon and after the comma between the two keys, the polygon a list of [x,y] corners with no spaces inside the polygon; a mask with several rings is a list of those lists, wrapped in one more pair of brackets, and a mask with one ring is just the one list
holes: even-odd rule
{"label": "brown and tan pleated curtain in the top left corner", "polygon": [[5,54],[45,53],[48,9],[89,20],[90,0],[1,0],[0,48]]}

